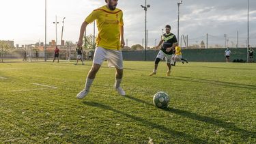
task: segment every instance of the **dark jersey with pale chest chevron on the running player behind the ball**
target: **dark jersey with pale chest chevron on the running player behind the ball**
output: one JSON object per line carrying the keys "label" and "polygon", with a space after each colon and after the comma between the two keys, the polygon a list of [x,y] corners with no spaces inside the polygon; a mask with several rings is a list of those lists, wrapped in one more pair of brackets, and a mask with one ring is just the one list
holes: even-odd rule
{"label": "dark jersey with pale chest chevron on the running player behind the ball", "polygon": [[171,50],[169,53],[167,53],[166,49],[173,46],[173,44],[177,43],[177,38],[173,33],[169,34],[163,34],[162,35],[162,48],[161,51],[164,52],[167,55],[173,55],[173,50]]}

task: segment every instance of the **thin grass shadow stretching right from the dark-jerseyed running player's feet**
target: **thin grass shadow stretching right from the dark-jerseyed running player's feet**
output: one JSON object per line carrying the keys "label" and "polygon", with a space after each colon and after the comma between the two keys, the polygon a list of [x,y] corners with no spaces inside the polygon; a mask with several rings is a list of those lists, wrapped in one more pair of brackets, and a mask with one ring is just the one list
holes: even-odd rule
{"label": "thin grass shadow stretching right from the dark-jerseyed running player's feet", "polygon": [[195,82],[195,83],[223,85],[226,87],[238,87],[238,88],[243,88],[243,89],[256,89],[256,85],[229,83],[229,82],[225,82],[225,81],[214,81],[214,80],[208,80],[208,79],[202,79],[202,78],[191,78],[191,77],[186,77],[186,76],[153,77],[153,78],[175,79],[178,81],[189,81],[189,82]]}

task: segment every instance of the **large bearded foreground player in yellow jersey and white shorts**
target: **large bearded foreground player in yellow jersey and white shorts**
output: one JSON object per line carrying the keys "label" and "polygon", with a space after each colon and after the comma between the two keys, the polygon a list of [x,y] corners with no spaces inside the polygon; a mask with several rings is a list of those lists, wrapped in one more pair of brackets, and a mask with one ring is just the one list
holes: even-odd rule
{"label": "large bearded foreground player in yellow jersey and white shorts", "polygon": [[87,25],[94,22],[94,20],[96,20],[98,27],[98,37],[96,39],[97,47],[94,53],[93,65],[87,75],[85,88],[76,96],[79,99],[87,96],[91,84],[96,77],[96,73],[104,60],[108,61],[109,67],[115,67],[114,88],[121,96],[126,95],[125,91],[120,87],[123,77],[123,56],[121,48],[125,45],[123,12],[116,8],[118,0],[105,0],[105,2],[106,5],[91,12],[81,26],[77,46],[82,46],[83,33]]}

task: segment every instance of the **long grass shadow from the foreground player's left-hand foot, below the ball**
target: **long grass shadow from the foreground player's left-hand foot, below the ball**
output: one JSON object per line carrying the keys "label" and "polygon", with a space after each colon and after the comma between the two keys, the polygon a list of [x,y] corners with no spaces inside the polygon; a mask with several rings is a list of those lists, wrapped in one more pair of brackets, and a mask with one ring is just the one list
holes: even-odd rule
{"label": "long grass shadow from the foreground player's left-hand foot, below the ball", "polygon": [[115,113],[124,115],[125,117],[133,119],[134,121],[138,121],[141,124],[147,125],[147,127],[150,127],[152,129],[160,130],[160,131],[165,132],[167,134],[171,134],[171,135],[173,135],[173,136],[175,136],[177,138],[184,139],[185,141],[189,141],[190,143],[206,143],[206,141],[203,141],[203,140],[201,140],[201,139],[199,139],[199,138],[197,138],[197,137],[195,137],[193,135],[186,134],[184,132],[177,132],[175,130],[171,130],[169,128],[166,128],[165,126],[161,126],[159,124],[153,123],[152,121],[149,121],[147,119],[143,119],[141,117],[136,117],[134,115],[130,115],[128,113],[124,113],[122,111],[113,109],[111,106],[106,106],[106,105],[100,104],[98,102],[83,102],[83,103],[86,104],[87,106],[94,106],[94,107],[98,107],[100,109],[104,109],[104,110],[108,110],[108,111],[113,111]]}

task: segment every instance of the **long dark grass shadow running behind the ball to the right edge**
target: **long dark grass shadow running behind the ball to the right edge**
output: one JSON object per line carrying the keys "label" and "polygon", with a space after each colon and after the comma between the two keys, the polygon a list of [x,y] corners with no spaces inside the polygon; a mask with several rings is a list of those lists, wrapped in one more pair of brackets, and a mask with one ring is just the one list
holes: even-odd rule
{"label": "long dark grass shadow running behind the ball to the right edge", "polygon": [[[145,102],[144,100],[140,100],[138,98],[134,98],[132,96],[124,96],[125,98],[129,98],[130,100],[134,100],[136,102],[141,102],[143,104],[147,104],[149,106],[154,106],[154,104]],[[212,124],[214,126],[219,126],[221,128],[225,128],[226,130],[231,130],[234,132],[239,132],[240,135],[242,136],[246,136],[249,137],[251,136],[252,138],[256,138],[256,132],[250,132],[248,130],[243,130],[241,128],[238,128],[236,125],[232,124],[232,123],[227,123],[225,121],[222,121],[220,119],[216,119],[216,118],[212,118],[212,117],[208,117],[208,116],[204,116],[204,115],[198,115],[197,113],[191,113],[189,111],[184,111],[184,110],[180,110],[180,109],[173,109],[173,108],[167,108],[167,109],[162,109],[163,111],[167,111],[169,113],[174,113],[176,115],[181,115],[183,117],[187,117],[190,119],[194,119],[197,121],[202,121],[208,124]]]}

